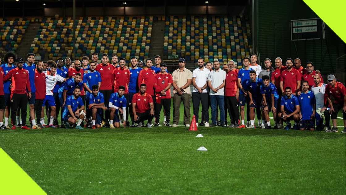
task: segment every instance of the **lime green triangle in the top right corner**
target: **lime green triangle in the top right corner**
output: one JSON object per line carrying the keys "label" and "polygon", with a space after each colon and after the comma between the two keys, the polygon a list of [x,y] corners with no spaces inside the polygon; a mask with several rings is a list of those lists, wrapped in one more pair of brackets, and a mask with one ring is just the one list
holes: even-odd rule
{"label": "lime green triangle in the top right corner", "polygon": [[303,0],[346,43],[345,0]]}

